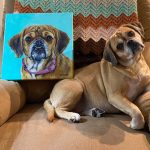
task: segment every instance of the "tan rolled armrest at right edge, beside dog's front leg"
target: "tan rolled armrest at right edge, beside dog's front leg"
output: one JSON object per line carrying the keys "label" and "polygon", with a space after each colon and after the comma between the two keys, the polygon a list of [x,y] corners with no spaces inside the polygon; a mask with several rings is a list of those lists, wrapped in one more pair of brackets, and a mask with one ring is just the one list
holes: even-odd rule
{"label": "tan rolled armrest at right edge, beside dog's front leg", "polygon": [[148,124],[150,131],[150,91],[142,94],[136,101],[135,104],[142,111],[146,123]]}

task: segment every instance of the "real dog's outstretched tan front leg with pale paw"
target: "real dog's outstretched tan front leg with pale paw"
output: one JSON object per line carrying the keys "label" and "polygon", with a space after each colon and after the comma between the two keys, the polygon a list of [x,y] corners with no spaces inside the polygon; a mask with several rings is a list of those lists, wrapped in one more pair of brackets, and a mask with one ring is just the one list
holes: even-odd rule
{"label": "real dog's outstretched tan front leg with pale paw", "polygon": [[117,109],[131,116],[130,126],[132,129],[142,129],[145,125],[145,120],[140,109],[130,102],[127,98],[120,94],[111,94],[108,101]]}

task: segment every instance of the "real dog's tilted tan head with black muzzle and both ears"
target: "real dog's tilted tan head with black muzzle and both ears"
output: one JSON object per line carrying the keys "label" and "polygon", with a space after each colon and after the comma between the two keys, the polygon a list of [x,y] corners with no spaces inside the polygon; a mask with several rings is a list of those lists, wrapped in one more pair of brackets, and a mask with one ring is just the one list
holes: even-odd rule
{"label": "real dog's tilted tan head with black muzzle and both ears", "polygon": [[132,65],[143,51],[144,30],[140,23],[122,25],[106,43],[103,58],[113,66]]}

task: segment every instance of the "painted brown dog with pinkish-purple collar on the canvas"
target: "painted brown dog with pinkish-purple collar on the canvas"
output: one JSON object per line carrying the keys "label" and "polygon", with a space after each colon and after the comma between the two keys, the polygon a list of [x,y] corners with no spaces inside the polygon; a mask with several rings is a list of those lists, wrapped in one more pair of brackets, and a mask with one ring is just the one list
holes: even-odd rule
{"label": "painted brown dog with pinkish-purple collar on the canvas", "polygon": [[14,36],[9,45],[21,57],[23,79],[72,78],[73,63],[62,54],[69,37],[52,26],[30,26]]}

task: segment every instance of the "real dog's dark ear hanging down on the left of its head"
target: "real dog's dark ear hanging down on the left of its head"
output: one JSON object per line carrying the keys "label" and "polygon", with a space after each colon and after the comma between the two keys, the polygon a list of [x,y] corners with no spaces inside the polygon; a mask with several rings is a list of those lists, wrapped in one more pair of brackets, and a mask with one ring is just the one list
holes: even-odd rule
{"label": "real dog's dark ear hanging down on the left of its head", "polygon": [[117,58],[112,50],[110,42],[108,42],[105,46],[103,58],[111,62],[113,66],[116,66],[118,64]]}

